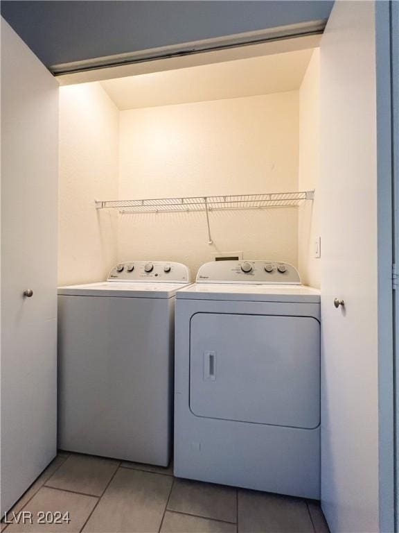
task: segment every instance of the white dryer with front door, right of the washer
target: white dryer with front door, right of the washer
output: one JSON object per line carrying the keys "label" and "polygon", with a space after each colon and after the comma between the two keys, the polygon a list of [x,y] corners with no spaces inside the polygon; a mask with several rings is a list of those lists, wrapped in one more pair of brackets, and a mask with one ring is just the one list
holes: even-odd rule
{"label": "white dryer with front door, right of the washer", "polygon": [[286,263],[206,263],[175,325],[175,475],[319,498],[319,291]]}

